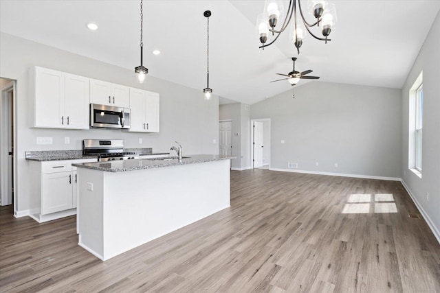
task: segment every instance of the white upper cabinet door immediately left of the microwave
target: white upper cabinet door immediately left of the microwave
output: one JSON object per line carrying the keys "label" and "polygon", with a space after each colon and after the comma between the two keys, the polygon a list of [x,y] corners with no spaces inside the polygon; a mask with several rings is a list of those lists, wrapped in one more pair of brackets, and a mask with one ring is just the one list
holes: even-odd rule
{"label": "white upper cabinet door immediately left of the microwave", "polygon": [[65,75],[65,127],[89,129],[90,79]]}

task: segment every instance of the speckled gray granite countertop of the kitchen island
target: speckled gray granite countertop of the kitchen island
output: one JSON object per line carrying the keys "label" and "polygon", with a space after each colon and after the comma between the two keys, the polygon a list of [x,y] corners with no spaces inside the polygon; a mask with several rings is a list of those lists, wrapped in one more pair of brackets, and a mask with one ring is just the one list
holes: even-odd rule
{"label": "speckled gray granite countertop of the kitchen island", "polygon": [[239,159],[241,156],[219,156],[217,154],[191,154],[184,156],[184,159],[179,162],[177,157],[170,157],[167,159],[137,159],[124,161],[107,161],[96,163],[79,163],[72,164],[72,166],[95,169],[105,172],[126,172],[140,169],[153,169],[160,167],[170,167],[177,165],[187,165],[196,163],[206,163],[212,161]]}

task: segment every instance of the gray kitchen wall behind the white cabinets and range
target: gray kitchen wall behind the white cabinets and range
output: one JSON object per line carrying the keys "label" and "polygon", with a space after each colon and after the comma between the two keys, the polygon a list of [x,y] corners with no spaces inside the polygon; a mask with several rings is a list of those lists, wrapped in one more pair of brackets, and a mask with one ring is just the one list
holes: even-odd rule
{"label": "gray kitchen wall behind the white cabinets and range", "polygon": [[[115,67],[104,62],[47,47],[9,34],[0,34],[0,77],[17,80],[17,211],[29,209],[32,187],[25,151],[80,150],[83,139],[124,139],[127,148],[153,148],[153,152],[169,152],[179,141],[184,155],[218,154],[219,102],[210,102],[203,93],[179,84],[148,75],[145,84],[135,82],[133,70]],[[160,132],[155,134],[126,133],[120,130],[56,130],[30,128],[28,70],[33,66],[46,67],[97,80],[124,84],[160,94]],[[133,64],[133,68],[137,66]],[[150,68],[150,73],[154,69]],[[52,145],[36,145],[36,137],[53,137]],[[70,144],[64,144],[70,137]],[[139,144],[138,139],[143,143]],[[213,140],[216,142],[213,143]],[[170,178],[173,180],[173,178]]]}

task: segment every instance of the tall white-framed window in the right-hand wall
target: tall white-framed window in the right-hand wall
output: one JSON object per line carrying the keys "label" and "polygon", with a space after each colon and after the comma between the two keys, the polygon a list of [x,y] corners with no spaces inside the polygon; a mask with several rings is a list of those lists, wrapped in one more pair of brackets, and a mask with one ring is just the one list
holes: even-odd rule
{"label": "tall white-framed window in the right-hand wall", "polygon": [[408,168],[421,178],[423,129],[423,73],[409,91]]}

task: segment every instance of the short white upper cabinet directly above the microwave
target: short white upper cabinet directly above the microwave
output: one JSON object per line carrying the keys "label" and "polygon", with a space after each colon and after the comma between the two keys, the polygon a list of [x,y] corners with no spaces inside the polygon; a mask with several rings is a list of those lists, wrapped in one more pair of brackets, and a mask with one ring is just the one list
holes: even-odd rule
{"label": "short white upper cabinet directly above the microwave", "polygon": [[130,88],[102,80],[90,80],[90,102],[130,108]]}

